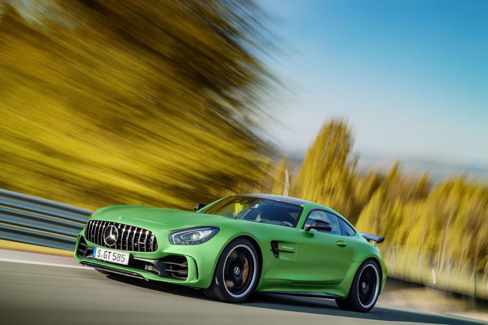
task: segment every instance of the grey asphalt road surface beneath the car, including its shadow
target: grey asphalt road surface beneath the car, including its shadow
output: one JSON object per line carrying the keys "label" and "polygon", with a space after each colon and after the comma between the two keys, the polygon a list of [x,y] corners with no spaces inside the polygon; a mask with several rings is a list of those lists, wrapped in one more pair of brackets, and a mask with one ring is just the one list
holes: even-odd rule
{"label": "grey asphalt road surface beneath the car, including its shadow", "polygon": [[242,305],[177,285],[109,278],[93,269],[0,262],[0,324],[480,324],[376,305],[367,314],[332,300],[255,294]]}

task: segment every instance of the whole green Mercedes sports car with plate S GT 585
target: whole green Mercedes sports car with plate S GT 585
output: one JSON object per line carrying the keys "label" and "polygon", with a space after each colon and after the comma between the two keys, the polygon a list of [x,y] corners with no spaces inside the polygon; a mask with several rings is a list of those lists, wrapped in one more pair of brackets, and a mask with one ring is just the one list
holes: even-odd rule
{"label": "whole green Mercedes sports car with plate S GT 585", "polygon": [[386,281],[377,247],[334,210],[277,195],[228,196],[193,211],[115,205],[95,211],[75,260],[116,273],[200,288],[224,302],[253,291],[335,299],[369,311]]}

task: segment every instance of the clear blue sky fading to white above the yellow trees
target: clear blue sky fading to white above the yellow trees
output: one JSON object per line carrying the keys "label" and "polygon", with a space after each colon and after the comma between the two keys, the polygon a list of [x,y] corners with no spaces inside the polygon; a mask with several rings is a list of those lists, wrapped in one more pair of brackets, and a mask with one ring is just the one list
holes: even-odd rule
{"label": "clear blue sky fading to white above the yellow trees", "polygon": [[488,1],[280,1],[285,82],[272,133],[305,150],[328,117],[353,127],[355,150],[488,167]]}

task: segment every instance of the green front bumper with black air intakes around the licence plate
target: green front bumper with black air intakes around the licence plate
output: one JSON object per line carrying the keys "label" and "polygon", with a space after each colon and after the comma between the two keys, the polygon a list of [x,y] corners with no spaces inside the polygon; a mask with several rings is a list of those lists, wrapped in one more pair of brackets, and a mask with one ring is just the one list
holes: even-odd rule
{"label": "green front bumper with black air intakes around the licence plate", "polygon": [[[158,249],[154,252],[135,252],[113,249],[94,244],[85,236],[85,229],[78,235],[75,260],[103,272],[117,273],[145,280],[183,284],[197,288],[210,286],[217,260],[228,240],[218,234],[208,242],[198,245],[172,245],[163,236],[158,237]],[[101,246],[113,251],[129,253],[128,265],[96,260],[93,247]],[[183,261],[185,263],[183,263]],[[183,267],[181,264],[185,264]],[[184,273],[184,272],[187,273]]]}

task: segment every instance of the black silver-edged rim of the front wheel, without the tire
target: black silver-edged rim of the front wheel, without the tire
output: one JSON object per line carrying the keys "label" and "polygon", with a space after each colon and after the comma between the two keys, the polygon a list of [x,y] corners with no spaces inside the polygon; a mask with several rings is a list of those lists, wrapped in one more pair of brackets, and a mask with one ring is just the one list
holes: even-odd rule
{"label": "black silver-edged rim of the front wheel, without the tire", "polygon": [[227,292],[234,297],[244,296],[255,278],[256,258],[246,245],[236,246],[227,255],[224,264],[224,284]]}

